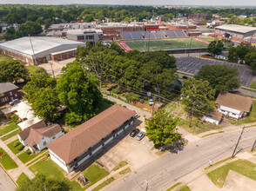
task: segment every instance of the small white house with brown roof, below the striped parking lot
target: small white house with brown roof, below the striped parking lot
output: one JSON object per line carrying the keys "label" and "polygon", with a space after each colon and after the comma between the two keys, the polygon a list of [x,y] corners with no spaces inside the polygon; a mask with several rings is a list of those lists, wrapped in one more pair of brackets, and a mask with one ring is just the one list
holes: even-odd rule
{"label": "small white house with brown roof, below the striped parking lot", "polygon": [[216,100],[218,111],[234,119],[240,119],[250,113],[253,99],[221,91]]}

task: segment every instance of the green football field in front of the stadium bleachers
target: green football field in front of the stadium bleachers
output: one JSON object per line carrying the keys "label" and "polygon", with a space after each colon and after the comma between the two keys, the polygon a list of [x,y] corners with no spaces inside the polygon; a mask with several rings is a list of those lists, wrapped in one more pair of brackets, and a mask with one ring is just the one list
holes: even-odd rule
{"label": "green football field in front of the stadium bleachers", "polygon": [[[195,37],[193,37],[194,39]],[[139,51],[150,50],[164,50],[164,49],[185,49],[187,44],[187,49],[192,48],[206,48],[208,44],[201,43],[199,41],[193,40],[192,38],[169,38],[169,39],[151,39],[149,40],[136,40],[136,41],[125,41],[132,49],[138,49]],[[212,38],[200,38],[202,40],[212,42]],[[150,45],[150,47],[149,47]],[[225,43],[228,46],[229,43]]]}

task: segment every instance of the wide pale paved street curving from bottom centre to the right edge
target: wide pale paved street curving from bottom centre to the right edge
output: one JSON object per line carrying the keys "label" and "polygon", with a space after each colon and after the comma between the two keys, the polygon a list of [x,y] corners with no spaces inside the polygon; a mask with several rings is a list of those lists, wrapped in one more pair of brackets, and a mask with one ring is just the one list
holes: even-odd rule
{"label": "wide pale paved street curving from bottom centre to the right edge", "polygon": [[[240,128],[222,135],[189,142],[178,153],[163,155],[123,179],[113,182],[105,190],[165,190],[175,181],[192,171],[208,165],[208,161],[219,161],[232,155],[232,150],[239,138]],[[256,128],[246,128],[239,144],[239,149],[251,148],[256,138]]]}

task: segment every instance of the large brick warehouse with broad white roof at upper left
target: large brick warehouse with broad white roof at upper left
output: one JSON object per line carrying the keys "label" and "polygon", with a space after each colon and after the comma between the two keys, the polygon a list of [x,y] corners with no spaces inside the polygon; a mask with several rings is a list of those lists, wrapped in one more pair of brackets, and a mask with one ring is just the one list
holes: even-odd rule
{"label": "large brick warehouse with broad white roof at upper left", "polygon": [[85,43],[48,36],[31,36],[1,43],[0,52],[24,63],[34,64],[74,57],[77,46],[85,46]]}

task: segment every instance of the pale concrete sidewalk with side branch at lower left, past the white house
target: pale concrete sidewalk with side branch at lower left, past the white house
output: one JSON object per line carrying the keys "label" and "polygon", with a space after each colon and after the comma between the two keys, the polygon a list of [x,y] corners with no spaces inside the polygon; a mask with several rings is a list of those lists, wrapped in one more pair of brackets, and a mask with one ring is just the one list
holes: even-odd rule
{"label": "pale concrete sidewalk with side branch at lower left, past the white house", "polygon": [[5,150],[5,152],[10,155],[10,158],[13,159],[13,161],[15,161],[17,163],[18,168],[14,168],[8,171],[9,175],[11,176],[11,178],[13,178],[15,181],[17,181],[17,178],[19,177],[19,175],[21,175],[23,172],[24,174],[26,174],[30,179],[34,178],[35,175],[30,171],[29,168],[27,168],[24,163],[22,161],[20,161],[17,158],[17,155],[15,155],[14,153],[12,153],[12,151],[10,150],[10,148],[8,148],[4,142],[2,140],[0,140],[0,148],[3,148],[3,150]]}

